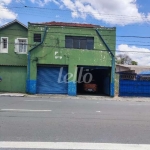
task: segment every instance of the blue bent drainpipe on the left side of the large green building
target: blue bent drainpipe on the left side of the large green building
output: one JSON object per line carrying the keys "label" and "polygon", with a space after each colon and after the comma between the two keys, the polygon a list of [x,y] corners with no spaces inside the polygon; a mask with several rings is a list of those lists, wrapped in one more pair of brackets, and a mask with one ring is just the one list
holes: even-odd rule
{"label": "blue bent drainpipe on the left side of the large green building", "polygon": [[[43,34],[43,37],[42,37],[41,42],[40,42],[38,45],[36,45],[35,47],[31,48],[31,49],[28,51],[28,69],[27,69],[27,81],[28,81],[28,82],[30,81],[30,59],[31,59],[31,52],[32,52],[35,48],[37,48],[38,46],[40,46],[40,45],[43,44],[43,42],[44,42],[44,40],[45,40],[45,37],[46,37],[47,29],[48,29],[48,27],[45,27],[44,34]],[[29,86],[29,85],[27,84],[27,86]],[[28,88],[29,88],[29,87],[27,87],[27,92],[30,91]]]}

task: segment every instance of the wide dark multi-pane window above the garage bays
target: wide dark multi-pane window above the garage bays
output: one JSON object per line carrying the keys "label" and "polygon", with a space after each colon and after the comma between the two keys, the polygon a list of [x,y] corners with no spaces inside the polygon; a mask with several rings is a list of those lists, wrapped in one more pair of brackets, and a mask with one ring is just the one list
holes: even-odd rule
{"label": "wide dark multi-pane window above the garage bays", "polygon": [[94,49],[94,37],[66,36],[65,47],[74,49]]}

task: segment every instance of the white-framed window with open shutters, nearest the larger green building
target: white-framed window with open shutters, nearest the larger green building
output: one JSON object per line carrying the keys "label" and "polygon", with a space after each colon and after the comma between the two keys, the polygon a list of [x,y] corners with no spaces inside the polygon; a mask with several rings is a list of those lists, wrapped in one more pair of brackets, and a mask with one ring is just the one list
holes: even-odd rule
{"label": "white-framed window with open shutters, nearest the larger green building", "polygon": [[26,54],[27,47],[28,47],[27,38],[17,38],[15,40],[15,52],[20,54]]}

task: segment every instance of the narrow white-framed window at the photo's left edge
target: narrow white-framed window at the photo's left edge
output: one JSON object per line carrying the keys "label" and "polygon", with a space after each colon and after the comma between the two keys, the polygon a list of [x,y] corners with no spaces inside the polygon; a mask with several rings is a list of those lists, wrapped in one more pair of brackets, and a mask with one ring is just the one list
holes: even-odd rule
{"label": "narrow white-framed window at the photo's left edge", "polygon": [[0,52],[8,53],[8,37],[1,37]]}

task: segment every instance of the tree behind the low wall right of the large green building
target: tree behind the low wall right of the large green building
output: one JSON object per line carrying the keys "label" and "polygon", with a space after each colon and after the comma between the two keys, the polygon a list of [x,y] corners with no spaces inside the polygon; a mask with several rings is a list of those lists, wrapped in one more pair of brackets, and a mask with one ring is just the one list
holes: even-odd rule
{"label": "tree behind the low wall right of the large green building", "polygon": [[136,61],[133,61],[128,55],[120,54],[116,57],[117,64],[124,64],[124,65],[138,65]]}

